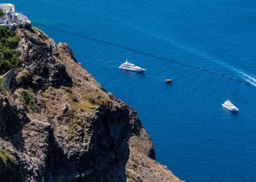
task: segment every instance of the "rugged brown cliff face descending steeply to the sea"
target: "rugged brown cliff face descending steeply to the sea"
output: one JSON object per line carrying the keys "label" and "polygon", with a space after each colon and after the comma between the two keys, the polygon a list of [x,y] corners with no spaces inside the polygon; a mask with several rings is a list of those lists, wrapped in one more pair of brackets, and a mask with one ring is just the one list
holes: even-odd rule
{"label": "rugged brown cliff face descending steeply to the sea", "polygon": [[1,181],[181,181],[155,161],[135,111],[65,43],[16,29],[23,60],[0,96]]}

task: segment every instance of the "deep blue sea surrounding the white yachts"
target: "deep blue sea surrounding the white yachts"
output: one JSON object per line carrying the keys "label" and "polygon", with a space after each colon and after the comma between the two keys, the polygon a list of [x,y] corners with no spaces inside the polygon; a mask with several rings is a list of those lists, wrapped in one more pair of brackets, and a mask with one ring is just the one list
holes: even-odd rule
{"label": "deep blue sea surrounding the white yachts", "polygon": [[[133,107],[156,160],[176,176],[256,181],[256,1],[1,3],[68,43],[108,93]],[[125,59],[147,70],[118,69]],[[227,99],[238,113],[221,106]]]}

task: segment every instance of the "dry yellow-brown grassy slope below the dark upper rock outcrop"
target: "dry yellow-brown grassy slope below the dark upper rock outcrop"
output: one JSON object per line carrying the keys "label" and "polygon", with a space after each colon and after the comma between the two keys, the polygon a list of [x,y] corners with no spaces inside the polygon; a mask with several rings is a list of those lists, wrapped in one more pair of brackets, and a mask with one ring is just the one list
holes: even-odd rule
{"label": "dry yellow-brown grassy slope below the dark upper rock outcrop", "polygon": [[[60,133],[61,131],[72,137],[74,136],[74,128],[79,125],[79,115],[95,112],[97,105],[109,105],[112,104],[112,100],[81,64],[72,60],[63,49],[57,48],[60,57],[55,59],[64,64],[72,79],[72,84],[58,88],[50,86],[45,90],[38,90],[36,98],[40,105],[39,113],[30,113],[29,117],[41,121],[43,118],[45,122],[51,123],[54,129],[56,128],[55,132]],[[21,85],[25,76],[26,71],[19,75]],[[65,104],[67,104],[69,110],[63,114]],[[59,130],[61,127],[63,127],[63,130]]]}

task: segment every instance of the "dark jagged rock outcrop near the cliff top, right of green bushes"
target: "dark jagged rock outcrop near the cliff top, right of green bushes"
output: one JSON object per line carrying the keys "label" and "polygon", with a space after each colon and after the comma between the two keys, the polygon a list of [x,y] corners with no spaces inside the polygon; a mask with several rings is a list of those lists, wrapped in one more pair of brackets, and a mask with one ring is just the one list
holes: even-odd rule
{"label": "dark jagged rock outcrop near the cliff top, right of green bushes", "polygon": [[18,29],[18,33],[22,38],[22,47],[19,47],[18,50],[21,51],[21,58],[24,60],[18,71],[26,69],[29,72],[24,84],[38,89],[72,84],[65,66],[54,58],[59,55],[53,42],[40,40],[37,34],[30,31],[21,32]]}

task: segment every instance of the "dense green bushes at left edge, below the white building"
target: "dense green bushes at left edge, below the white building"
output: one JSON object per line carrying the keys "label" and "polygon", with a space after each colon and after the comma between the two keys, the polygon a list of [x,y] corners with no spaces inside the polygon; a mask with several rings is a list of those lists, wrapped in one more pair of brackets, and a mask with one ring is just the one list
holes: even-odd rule
{"label": "dense green bushes at left edge, below the white building", "polygon": [[0,26],[0,74],[20,64],[20,52],[14,50],[19,42],[20,37],[12,29]]}

